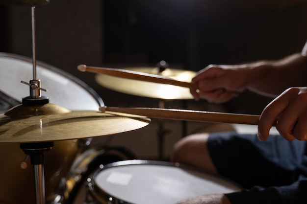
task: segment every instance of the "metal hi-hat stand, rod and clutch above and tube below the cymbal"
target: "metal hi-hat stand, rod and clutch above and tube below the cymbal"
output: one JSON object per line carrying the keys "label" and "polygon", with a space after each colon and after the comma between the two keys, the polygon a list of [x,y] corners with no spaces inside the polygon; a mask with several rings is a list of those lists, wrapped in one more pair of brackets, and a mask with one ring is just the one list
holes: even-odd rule
{"label": "metal hi-hat stand, rod and clutch above and tube below the cymbal", "polygon": [[[44,105],[49,103],[49,98],[41,95],[40,80],[36,79],[36,42],[35,42],[35,6],[32,6],[32,52],[33,52],[33,79],[29,83],[21,81],[30,87],[30,96],[23,98],[23,105]],[[36,204],[45,204],[45,175],[44,175],[44,155],[50,150],[53,142],[22,143],[26,156],[30,156],[33,165],[35,198]]]}

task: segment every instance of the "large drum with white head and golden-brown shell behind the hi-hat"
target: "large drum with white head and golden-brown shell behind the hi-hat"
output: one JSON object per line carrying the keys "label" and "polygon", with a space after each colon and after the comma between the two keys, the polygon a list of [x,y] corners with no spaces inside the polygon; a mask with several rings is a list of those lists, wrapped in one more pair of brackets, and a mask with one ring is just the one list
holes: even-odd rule
{"label": "large drum with white head and golden-brown shell behind the hi-hat", "polygon": [[[29,87],[20,83],[32,79],[32,59],[24,56],[0,53],[0,91],[9,103],[1,103],[3,109],[11,108],[23,97],[29,95]],[[43,95],[50,102],[70,110],[98,110],[103,105],[102,99],[90,87],[76,77],[42,62],[37,62],[37,77],[42,81],[42,88],[48,89]],[[2,94],[2,95],[3,95]],[[2,100],[5,100],[2,97]],[[13,102],[14,103],[13,103]],[[0,109],[1,110],[1,109]],[[54,147],[45,153],[46,202],[54,201],[60,191],[63,178],[66,178],[71,165],[80,151],[80,140],[54,142]],[[17,143],[0,143],[0,203],[33,204],[35,203],[34,177],[30,164],[21,169],[20,163],[26,155]],[[65,185],[65,183],[64,183]],[[63,187],[63,186],[62,186]],[[65,187],[65,186],[64,186]]]}

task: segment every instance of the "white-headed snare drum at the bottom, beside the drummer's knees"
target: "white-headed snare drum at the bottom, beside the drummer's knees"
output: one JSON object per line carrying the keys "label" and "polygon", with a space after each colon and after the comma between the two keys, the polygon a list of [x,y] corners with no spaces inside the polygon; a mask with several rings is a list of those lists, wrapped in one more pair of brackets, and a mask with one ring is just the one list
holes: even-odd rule
{"label": "white-headed snare drum at the bottom, beside the drummer's knees", "polygon": [[91,197],[102,204],[176,204],[191,197],[241,189],[192,167],[150,160],[103,166],[88,185]]}

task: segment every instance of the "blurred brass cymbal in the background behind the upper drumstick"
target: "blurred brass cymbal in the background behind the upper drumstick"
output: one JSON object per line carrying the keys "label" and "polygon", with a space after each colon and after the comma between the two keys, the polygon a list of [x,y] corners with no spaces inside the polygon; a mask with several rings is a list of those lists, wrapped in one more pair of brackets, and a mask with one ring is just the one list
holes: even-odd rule
{"label": "blurred brass cymbal in the background behind the upper drumstick", "polygon": [[[163,77],[169,77],[177,81],[191,82],[195,76],[194,71],[165,68],[141,67],[125,68],[130,71],[154,74]],[[185,87],[173,86],[168,84],[158,84],[153,82],[138,81],[134,79],[125,79],[105,74],[97,74],[95,80],[101,86],[110,90],[119,91],[131,95],[144,96],[159,99],[192,99],[190,90]]]}

